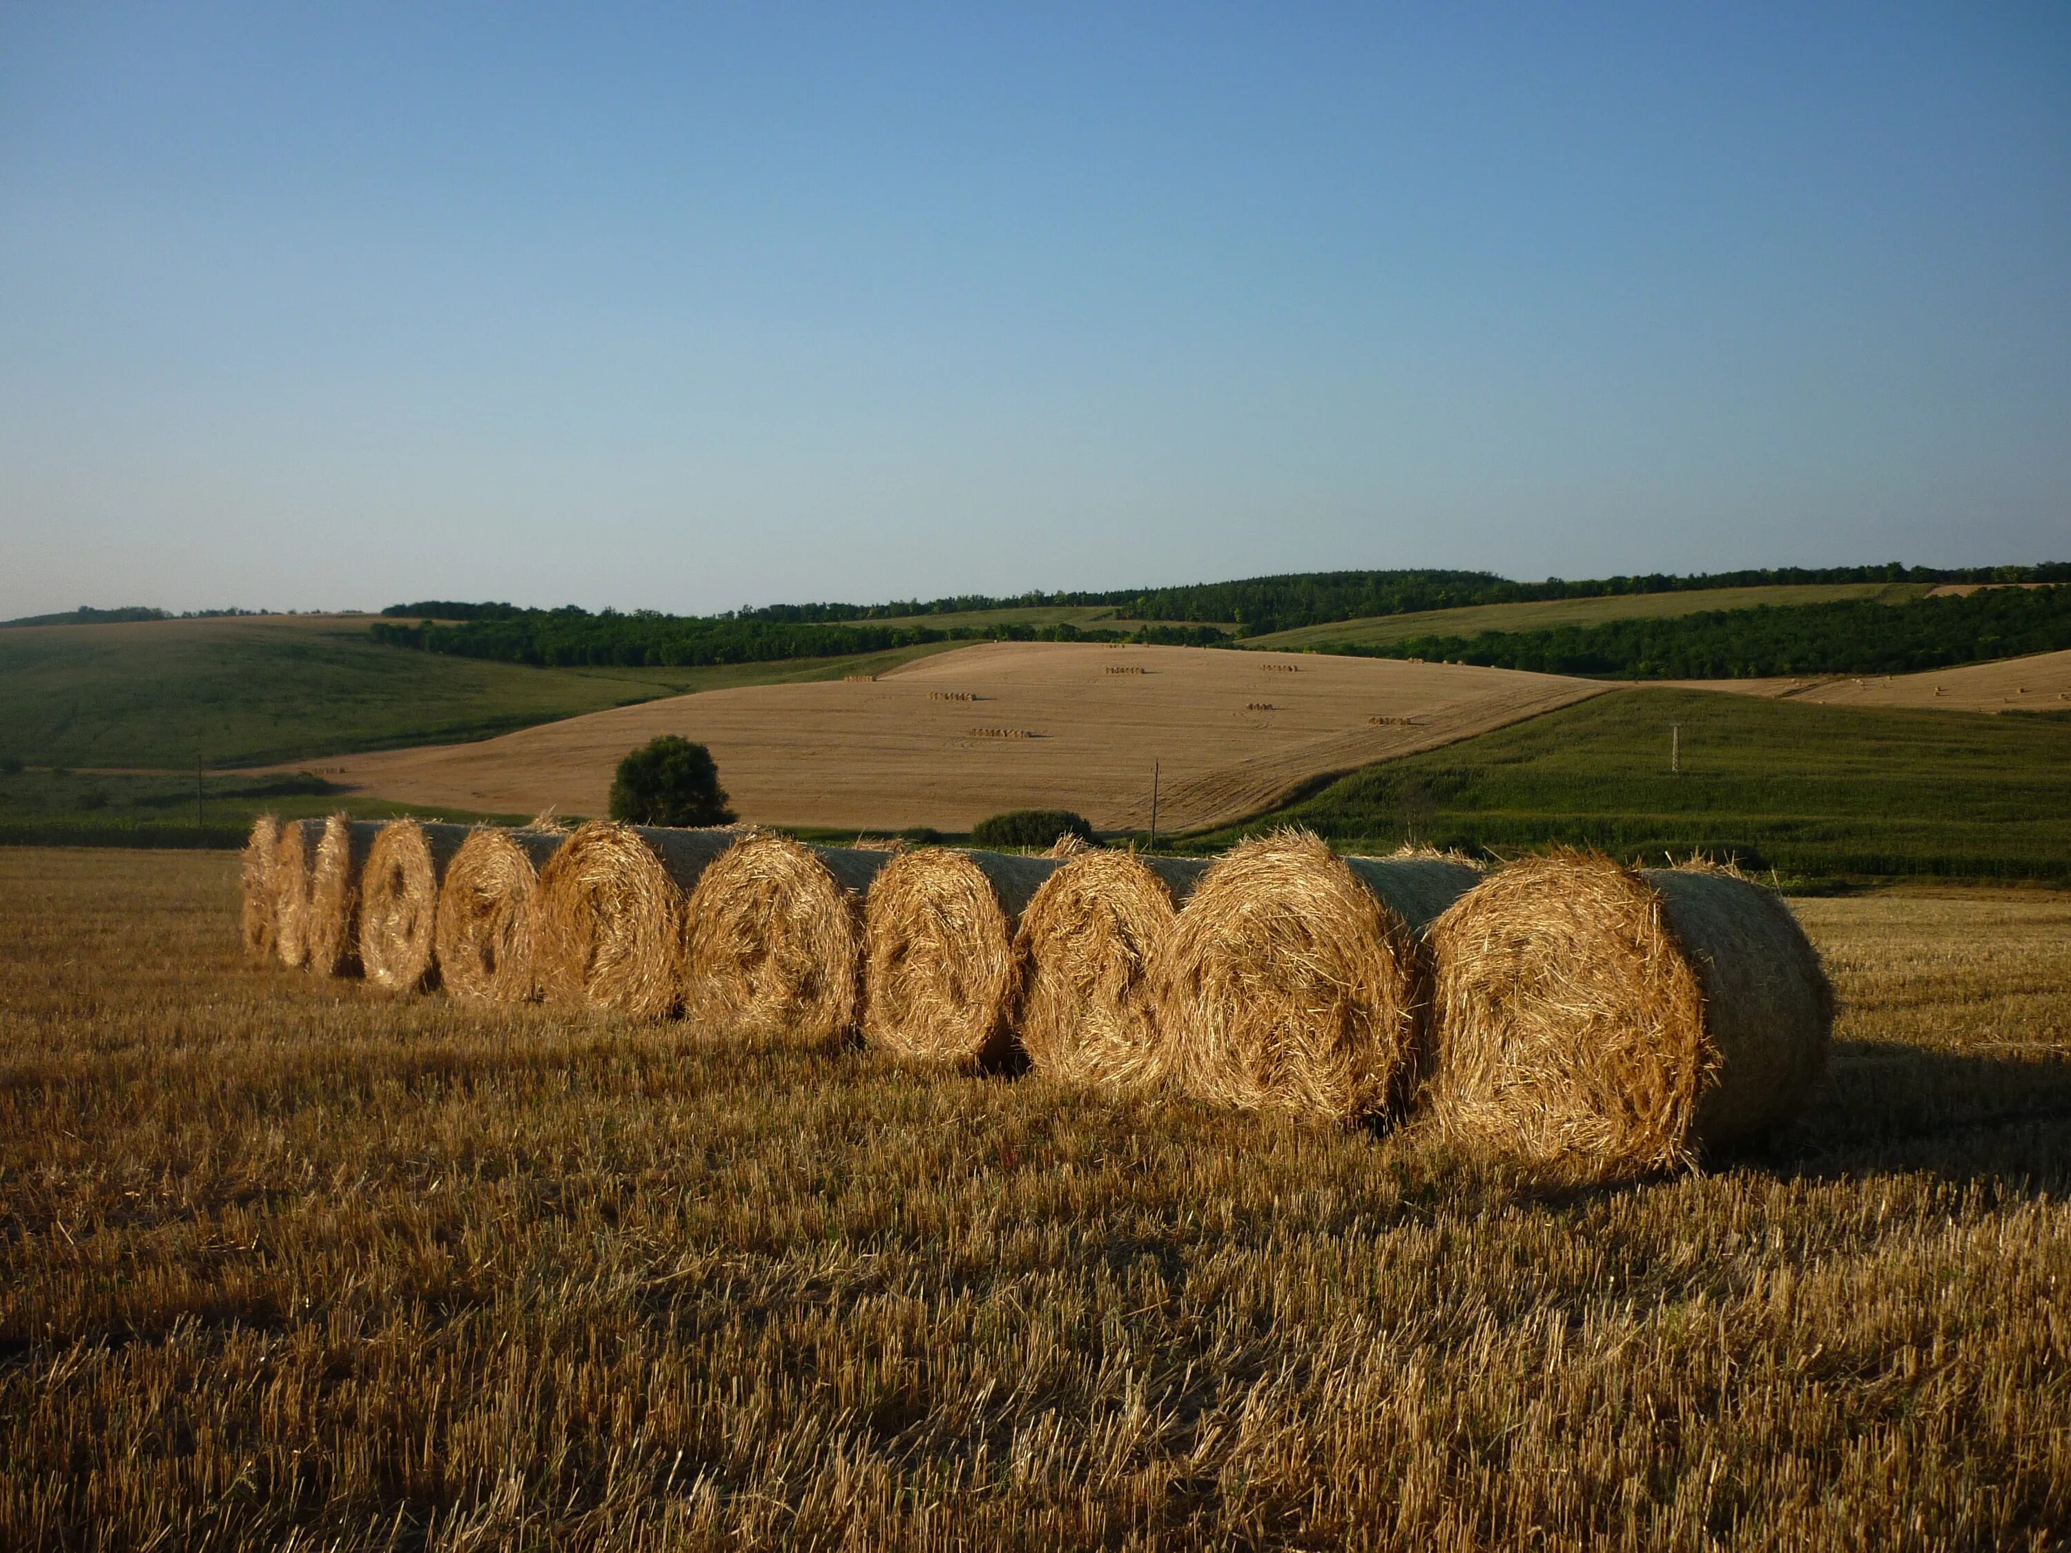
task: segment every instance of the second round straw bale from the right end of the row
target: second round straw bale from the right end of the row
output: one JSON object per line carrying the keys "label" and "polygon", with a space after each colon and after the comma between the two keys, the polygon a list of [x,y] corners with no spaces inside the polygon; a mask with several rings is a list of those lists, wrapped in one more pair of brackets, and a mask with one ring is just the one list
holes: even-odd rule
{"label": "second round straw bale from the right end of the row", "polygon": [[1319,1122],[1394,1108],[1425,1044],[1419,934],[1477,878],[1437,853],[1338,857],[1305,830],[1232,847],[1151,973],[1170,1081]]}

